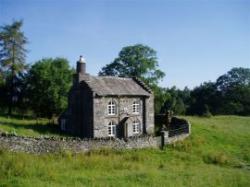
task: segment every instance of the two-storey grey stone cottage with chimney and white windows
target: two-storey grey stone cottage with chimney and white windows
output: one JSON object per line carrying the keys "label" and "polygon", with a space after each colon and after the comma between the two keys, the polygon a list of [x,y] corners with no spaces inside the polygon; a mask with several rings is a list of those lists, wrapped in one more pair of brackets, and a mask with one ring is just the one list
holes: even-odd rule
{"label": "two-storey grey stone cottage with chimney and white windows", "polygon": [[137,78],[92,76],[77,61],[62,131],[86,138],[127,138],[154,133],[154,96]]}

